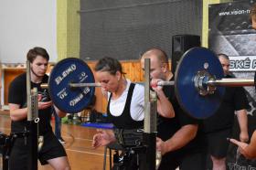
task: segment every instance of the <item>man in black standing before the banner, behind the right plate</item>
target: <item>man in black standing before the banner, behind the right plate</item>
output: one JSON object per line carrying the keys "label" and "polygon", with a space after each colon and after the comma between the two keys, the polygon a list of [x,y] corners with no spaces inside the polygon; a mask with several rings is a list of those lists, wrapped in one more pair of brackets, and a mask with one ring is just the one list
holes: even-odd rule
{"label": "man in black standing before the banner, behind the right plate", "polygon": [[[218,58],[224,72],[224,78],[232,78],[229,72],[229,57],[225,54],[219,54]],[[245,90],[242,87],[228,87],[225,90],[219,110],[204,120],[204,132],[206,133],[208,153],[212,160],[213,170],[227,169],[226,156],[229,148],[227,138],[232,135],[235,112],[240,125],[240,140],[248,141],[246,112],[248,107]]]}

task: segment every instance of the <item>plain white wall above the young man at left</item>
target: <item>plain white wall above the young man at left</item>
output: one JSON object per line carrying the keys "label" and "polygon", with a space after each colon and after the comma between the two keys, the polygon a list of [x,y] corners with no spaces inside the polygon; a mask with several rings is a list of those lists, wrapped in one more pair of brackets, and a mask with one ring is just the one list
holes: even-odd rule
{"label": "plain white wall above the young man at left", "polygon": [[25,63],[36,46],[57,61],[56,20],[57,0],[0,0],[0,62]]}

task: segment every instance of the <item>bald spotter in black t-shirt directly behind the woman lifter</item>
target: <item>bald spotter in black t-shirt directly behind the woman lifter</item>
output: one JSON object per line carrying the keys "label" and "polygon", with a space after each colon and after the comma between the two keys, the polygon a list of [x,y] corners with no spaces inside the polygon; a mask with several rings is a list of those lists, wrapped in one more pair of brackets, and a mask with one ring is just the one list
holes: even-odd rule
{"label": "bald spotter in black t-shirt directly behind the woman lifter", "polygon": [[[150,58],[150,78],[152,84],[159,80],[174,80],[169,69],[168,58],[159,48],[144,52],[141,66],[144,69],[144,58]],[[201,154],[197,146],[197,120],[189,117],[176,100],[173,86],[153,87],[157,94],[157,139],[156,149],[163,155],[158,170],[204,169],[200,164]],[[175,116],[175,117],[174,117]]]}

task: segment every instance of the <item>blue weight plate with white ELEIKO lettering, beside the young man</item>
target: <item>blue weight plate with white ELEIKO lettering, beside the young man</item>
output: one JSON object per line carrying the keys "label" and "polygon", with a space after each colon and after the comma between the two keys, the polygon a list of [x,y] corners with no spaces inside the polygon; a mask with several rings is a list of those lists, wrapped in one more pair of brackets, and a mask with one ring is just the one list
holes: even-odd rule
{"label": "blue weight plate with white ELEIKO lettering, beside the young man", "polygon": [[48,90],[53,103],[63,112],[81,112],[91,103],[94,87],[69,88],[69,83],[95,82],[89,66],[79,58],[60,60],[48,79]]}

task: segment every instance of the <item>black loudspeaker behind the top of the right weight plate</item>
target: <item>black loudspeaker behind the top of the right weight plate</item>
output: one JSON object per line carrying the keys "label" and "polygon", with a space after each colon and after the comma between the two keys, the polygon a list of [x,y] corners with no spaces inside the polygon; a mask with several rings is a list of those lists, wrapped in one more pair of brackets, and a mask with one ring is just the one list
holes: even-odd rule
{"label": "black loudspeaker behind the top of the right weight plate", "polygon": [[172,38],[172,71],[175,73],[176,65],[182,55],[190,48],[200,47],[200,37],[196,35],[176,35]]}

